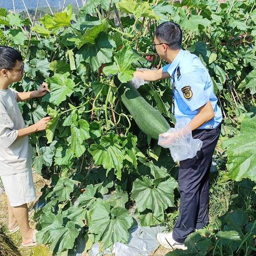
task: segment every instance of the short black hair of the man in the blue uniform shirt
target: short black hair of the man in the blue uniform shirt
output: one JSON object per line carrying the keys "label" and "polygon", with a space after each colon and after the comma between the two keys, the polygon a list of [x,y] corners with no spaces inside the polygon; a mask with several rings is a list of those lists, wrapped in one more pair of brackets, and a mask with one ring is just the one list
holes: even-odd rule
{"label": "short black hair of the man in the blue uniform shirt", "polygon": [[161,43],[170,45],[172,50],[179,50],[182,43],[182,30],[179,24],[172,21],[165,21],[155,31],[156,38]]}

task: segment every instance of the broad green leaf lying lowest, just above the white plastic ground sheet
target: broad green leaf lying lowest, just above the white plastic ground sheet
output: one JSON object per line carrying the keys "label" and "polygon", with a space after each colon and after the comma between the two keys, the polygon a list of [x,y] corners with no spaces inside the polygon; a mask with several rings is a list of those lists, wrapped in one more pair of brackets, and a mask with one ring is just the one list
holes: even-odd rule
{"label": "broad green leaf lying lowest, just above the white plastic ground sheet", "polygon": [[89,233],[98,235],[102,249],[115,242],[128,242],[128,229],[132,226],[133,219],[125,208],[115,207],[110,210],[108,202],[97,199],[90,212],[90,219]]}

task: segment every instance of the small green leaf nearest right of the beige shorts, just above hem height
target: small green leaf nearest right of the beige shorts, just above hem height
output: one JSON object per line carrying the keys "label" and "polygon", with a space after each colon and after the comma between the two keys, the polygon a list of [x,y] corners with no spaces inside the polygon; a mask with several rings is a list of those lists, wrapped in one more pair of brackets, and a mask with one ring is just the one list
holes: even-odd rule
{"label": "small green leaf nearest right of the beige shorts, just above hem height", "polygon": [[59,202],[66,201],[70,198],[70,193],[73,192],[76,183],[75,180],[59,179],[53,187],[52,193],[55,194]]}

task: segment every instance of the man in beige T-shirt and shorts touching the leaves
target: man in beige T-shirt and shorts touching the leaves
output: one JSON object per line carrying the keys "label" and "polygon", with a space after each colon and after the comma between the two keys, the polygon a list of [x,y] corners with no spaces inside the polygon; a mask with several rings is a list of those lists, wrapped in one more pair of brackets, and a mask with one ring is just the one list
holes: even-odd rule
{"label": "man in beige T-shirt and shorts touching the leaves", "polygon": [[29,226],[27,203],[36,199],[31,163],[33,151],[28,135],[44,131],[50,117],[25,126],[17,102],[43,97],[50,92],[46,83],[37,91],[17,92],[9,88],[20,82],[24,63],[20,52],[0,46],[0,177],[7,196],[9,230],[20,229],[22,247],[37,246],[36,230]]}

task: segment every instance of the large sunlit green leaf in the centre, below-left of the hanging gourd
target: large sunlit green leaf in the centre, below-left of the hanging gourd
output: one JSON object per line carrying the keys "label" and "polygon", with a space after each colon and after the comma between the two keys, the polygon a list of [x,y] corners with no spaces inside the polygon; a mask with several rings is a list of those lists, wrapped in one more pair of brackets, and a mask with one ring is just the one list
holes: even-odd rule
{"label": "large sunlit green leaf in the centre, below-left of the hanging gourd", "polygon": [[125,159],[120,144],[121,140],[118,135],[110,133],[109,136],[101,137],[100,145],[92,144],[89,149],[95,164],[103,165],[107,171],[114,169],[118,179],[121,179],[121,170]]}

